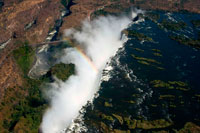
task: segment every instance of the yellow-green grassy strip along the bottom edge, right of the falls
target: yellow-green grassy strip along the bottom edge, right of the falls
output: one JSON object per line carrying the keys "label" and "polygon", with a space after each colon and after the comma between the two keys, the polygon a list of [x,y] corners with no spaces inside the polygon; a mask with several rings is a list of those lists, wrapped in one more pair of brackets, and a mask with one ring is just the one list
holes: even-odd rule
{"label": "yellow-green grassy strip along the bottom edge, right of the falls", "polygon": [[[175,82],[179,84],[181,82]],[[172,95],[162,95],[161,98],[175,98]],[[152,105],[157,107],[157,105]],[[171,108],[175,108],[175,105],[170,105]],[[127,132],[135,132],[136,130],[140,130],[143,132],[199,132],[200,128],[198,125],[195,125],[192,122],[186,122],[184,127],[175,127],[175,123],[169,119],[158,118],[154,120],[146,120],[146,119],[135,119],[130,117],[129,115],[121,114],[115,112],[115,114],[110,113],[102,113],[99,110],[93,110],[91,112],[93,117],[90,116],[91,120],[86,119],[85,122],[92,127],[96,127],[101,132],[112,132],[112,133],[127,133]],[[113,122],[118,123],[121,126],[110,126]],[[123,128],[121,128],[123,127]]]}

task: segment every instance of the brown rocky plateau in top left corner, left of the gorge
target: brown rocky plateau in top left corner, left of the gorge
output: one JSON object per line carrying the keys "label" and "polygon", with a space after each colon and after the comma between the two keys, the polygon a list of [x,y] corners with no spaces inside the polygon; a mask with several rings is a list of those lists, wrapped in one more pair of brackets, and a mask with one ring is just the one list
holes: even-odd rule
{"label": "brown rocky plateau in top left corner, left of the gorge", "polygon": [[[13,4],[15,6],[12,6]],[[64,7],[62,8],[59,0],[23,0],[10,5],[6,2],[0,14],[0,27],[5,30],[0,30],[0,36],[3,33],[11,36],[15,32],[18,38],[26,38],[31,43],[42,42],[48,34],[49,27],[60,18],[61,9]],[[35,26],[32,28],[33,24]],[[32,29],[27,30],[29,28]]]}

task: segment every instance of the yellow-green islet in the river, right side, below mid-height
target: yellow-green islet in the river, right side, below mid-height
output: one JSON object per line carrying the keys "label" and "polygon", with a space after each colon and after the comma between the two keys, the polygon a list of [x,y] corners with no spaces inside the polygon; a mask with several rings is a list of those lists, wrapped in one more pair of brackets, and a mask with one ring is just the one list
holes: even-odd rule
{"label": "yellow-green islet in the river, right side, below mid-height", "polygon": [[164,81],[161,81],[161,80],[153,80],[150,83],[155,88],[176,89],[176,90],[181,90],[181,91],[188,91],[189,90],[187,83],[184,83],[182,81],[164,82]]}

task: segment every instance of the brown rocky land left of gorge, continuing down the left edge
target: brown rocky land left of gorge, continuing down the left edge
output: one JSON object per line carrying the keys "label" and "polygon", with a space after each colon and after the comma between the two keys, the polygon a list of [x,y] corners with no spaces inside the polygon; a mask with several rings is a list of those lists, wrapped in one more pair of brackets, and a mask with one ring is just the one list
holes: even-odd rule
{"label": "brown rocky land left of gorge, continuing down the left edge", "polygon": [[45,41],[64,6],[60,0],[6,0],[0,12],[0,86],[1,94],[9,87],[21,86],[20,73],[12,59],[12,50],[20,41]]}

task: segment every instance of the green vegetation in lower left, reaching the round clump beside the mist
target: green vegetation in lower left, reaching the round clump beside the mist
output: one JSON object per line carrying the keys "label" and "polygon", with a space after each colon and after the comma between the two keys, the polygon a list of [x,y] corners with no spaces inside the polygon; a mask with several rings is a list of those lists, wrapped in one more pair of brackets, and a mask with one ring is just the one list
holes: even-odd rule
{"label": "green vegetation in lower left, reaching the round clump beside the mist", "polygon": [[[16,42],[19,45],[21,42]],[[39,79],[28,77],[28,71],[33,63],[35,51],[24,42],[21,47],[13,51],[14,59],[23,72],[23,86],[8,88],[0,102],[0,131],[1,132],[33,132],[37,133],[42,115],[48,106],[43,98],[41,85],[50,81],[51,75]],[[58,64],[51,69],[51,73],[66,80],[74,73],[74,65]],[[61,71],[63,72],[61,74]]]}

